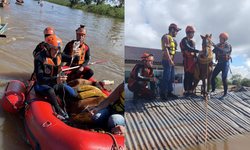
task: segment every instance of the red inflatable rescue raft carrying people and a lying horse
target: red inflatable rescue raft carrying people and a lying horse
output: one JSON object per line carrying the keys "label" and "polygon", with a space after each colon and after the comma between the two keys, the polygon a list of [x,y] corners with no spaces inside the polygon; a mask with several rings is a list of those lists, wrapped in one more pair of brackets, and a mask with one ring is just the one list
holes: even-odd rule
{"label": "red inflatable rescue raft carrying people and a lying horse", "polygon": [[[24,110],[24,125],[31,146],[35,150],[115,150],[124,148],[124,135],[97,133],[73,128],[55,116],[54,107],[36,94],[32,85],[12,80],[6,86],[2,107],[16,113],[23,110],[24,99],[29,101]],[[29,91],[25,96],[25,91]],[[107,91],[103,91],[104,93]],[[108,94],[108,93],[106,93]]]}

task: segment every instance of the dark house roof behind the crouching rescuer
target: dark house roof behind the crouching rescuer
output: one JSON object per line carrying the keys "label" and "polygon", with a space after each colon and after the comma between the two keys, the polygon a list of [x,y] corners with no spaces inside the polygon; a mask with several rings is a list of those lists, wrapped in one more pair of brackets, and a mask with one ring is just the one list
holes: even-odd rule
{"label": "dark house roof behind the crouching rescuer", "polygon": [[[141,56],[143,53],[154,54],[154,64],[161,64],[163,55],[161,49],[132,46],[125,46],[125,63],[138,63],[141,61]],[[174,61],[175,65],[183,65],[183,57],[181,52],[176,51]]]}

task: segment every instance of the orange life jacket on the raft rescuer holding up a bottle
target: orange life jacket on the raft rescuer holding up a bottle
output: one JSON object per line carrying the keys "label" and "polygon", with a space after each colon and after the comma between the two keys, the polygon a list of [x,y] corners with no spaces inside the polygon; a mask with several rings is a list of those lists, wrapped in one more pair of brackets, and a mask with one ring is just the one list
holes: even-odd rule
{"label": "orange life jacket on the raft rescuer holding up a bottle", "polygon": [[[73,40],[73,41],[71,41],[69,43],[69,48],[70,49],[69,49],[69,54],[68,55],[70,55],[70,56],[73,55],[73,44],[74,44],[74,41],[75,40]],[[78,63],[72,63],[71,66],[78,66],[78,65],[84,63],[84,61],[85,61],[85,54],[86,54],[86,51],[88,50],[88,46],[86,45],[86,43],[81,43],[80,44],[80,49],[81,49],[81,55],[80,55]]]}

